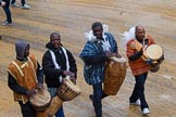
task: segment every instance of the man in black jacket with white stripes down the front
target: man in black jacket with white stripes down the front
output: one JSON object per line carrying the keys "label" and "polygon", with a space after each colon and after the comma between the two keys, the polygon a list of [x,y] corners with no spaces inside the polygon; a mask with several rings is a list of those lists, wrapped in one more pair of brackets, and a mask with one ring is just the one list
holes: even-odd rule
{"label": "man in black jacket with white stripes down the front", "polygon": [[[48,50],[42,57],[42,68],[48,90],[53,98],[66,76],[76,83],[77,66],[73,54],[61,43],[60,34],[52,32],[46,48]],[[56,112],[55,117],[65,117],[63,106]]]}

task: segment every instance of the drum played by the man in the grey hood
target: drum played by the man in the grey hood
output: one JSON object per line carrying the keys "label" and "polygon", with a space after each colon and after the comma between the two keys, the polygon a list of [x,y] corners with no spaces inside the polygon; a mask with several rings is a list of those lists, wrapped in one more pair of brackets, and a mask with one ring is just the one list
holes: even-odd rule
{"label": "drum played by the man in the grey hood", "polygon": [[29,103],[38,112],[43,112],[51,103],[51,94],[46,89],[36,89],[37,94],[29,98]]}

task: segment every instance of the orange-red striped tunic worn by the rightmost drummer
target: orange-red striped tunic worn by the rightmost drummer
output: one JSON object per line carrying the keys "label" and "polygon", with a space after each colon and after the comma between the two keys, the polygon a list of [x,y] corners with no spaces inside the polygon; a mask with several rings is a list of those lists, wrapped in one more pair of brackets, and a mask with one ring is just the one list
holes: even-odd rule
{"label": "orange-red striped tunic worn by the rightmost drummer", "polygon": [[[150,36],[147,36],[147,38],[149,40],[147,47],[154,43],[153,39]],[[126,51],[127,57],[138,52],[138,49],[131,48],[131,43],[134,42],[136,42],[136,39],[131,39],[127,42],[127,51]],[[143,61],[142,57],[139,57],[136,61],[128,61],[128,63],[134,76],[141,75],[150,69],[150,65],[146,61]]]}

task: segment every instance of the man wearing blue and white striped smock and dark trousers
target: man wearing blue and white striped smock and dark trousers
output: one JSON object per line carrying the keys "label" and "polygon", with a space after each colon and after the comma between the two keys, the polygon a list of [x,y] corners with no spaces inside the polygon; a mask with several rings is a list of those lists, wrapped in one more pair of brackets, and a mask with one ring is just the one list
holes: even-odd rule
{"label": "man wearing blue and white striped smock and dark trousers", "polygon": [[85,63],[85,80],[93,89],[93,94],[89,96],[92,100],[96,117],[102,117],[101,100],[106,96],[102,90],[105,62],[109,57],[118,55],[118,52],[114,37],[103,31],[103,25],[100,22],[93,23],[91,29],[79,57]]}

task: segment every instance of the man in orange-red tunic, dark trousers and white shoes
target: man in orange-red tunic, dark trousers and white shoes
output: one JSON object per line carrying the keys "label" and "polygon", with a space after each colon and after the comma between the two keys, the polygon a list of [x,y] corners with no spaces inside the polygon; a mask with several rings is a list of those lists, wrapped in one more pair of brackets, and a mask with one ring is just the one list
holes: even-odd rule
{"label": "man in orange-red tunic, dark trousers and white shoes", "polygon": [[136,26],[135,39],[127,42],[127,57],[133,75],[135,76],[134,91],[129,98],[129,103],[140,105],[143,115],[150,113],[149,105],[144,96],[144,82],[148,77],[148,72],[153,64],[146,55],[146,50],[149,46],[154,44],[150,36],[146,36],[143,26]]}

